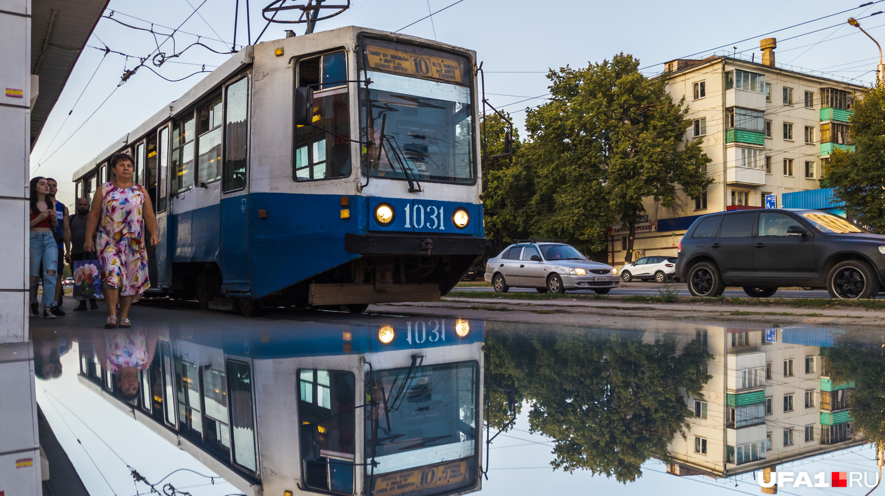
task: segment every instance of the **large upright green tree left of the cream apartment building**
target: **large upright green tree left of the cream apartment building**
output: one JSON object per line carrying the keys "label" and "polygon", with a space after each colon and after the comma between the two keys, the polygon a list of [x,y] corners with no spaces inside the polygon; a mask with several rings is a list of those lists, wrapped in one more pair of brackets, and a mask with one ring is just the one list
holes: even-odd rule
{"label": "large upright green tree left of the cream apartment building", "polygon": [[620,216],[630,231],[629,262],[644,198],[673,208],[679,187],[695,198],[712,183],[701,141],[685,141],[685,98],[673,103],[666,76],[647,78],[638,66],[620,53],[548,74],[550,102],[526,118],[536,146],[534,233],[599,251]]}

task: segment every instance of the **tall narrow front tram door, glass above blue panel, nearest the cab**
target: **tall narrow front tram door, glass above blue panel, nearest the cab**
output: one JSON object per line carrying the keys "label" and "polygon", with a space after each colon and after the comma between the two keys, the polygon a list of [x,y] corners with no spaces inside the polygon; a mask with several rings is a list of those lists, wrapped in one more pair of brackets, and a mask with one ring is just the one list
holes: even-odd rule
{"label": "tall narrow front tram door, glass above blue panel, nearest the cab", "polygon": [[250,293],[249,263],[249,75],[224,91],[224,172],[221,178],[219,266],[231,295]]}

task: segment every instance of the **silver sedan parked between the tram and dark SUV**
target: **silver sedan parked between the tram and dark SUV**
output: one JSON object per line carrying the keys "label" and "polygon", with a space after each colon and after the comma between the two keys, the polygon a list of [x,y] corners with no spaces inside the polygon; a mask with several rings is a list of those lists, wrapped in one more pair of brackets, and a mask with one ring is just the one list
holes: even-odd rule
{"label": "silver sedan parked between the tram and dark SUV", "polygon": [[592,289],[606,294],[620,285],[614,267],[593,262],[570,245],[524,242],[511,245],[486,263],[486,282],[496,293],[511,287],[534,287],[538,293],[565,293],[569,289]]}

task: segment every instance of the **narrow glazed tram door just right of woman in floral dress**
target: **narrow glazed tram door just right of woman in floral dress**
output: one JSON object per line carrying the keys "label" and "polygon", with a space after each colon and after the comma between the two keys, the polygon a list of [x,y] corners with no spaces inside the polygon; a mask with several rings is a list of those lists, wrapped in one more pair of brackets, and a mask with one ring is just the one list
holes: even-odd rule
{"label": "narrow glazed tram door just right of woman in floral dress", "polygon": [[[169,125],[162,126],[157,131],[156,141],[156,197],[154,209],[157,212],[157,233],[159,244],[154,249],[153,263],[149,264],[148,271],[151,279],[151,287],[166,289],[172,286],[172,202],[169,201]],[[150,259],[149,259],[150,263]],[[154,272],[150,272],[153,265]],[[156,274],[156,286],[153,282]]]}

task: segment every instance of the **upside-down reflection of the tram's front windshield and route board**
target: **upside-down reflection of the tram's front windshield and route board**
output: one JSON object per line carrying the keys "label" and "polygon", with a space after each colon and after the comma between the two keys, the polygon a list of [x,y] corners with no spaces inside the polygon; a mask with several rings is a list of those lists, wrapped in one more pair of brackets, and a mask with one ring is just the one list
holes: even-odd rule
{"label": "upside-down reflection of the tram's front windshield and route board", "polygon": [[[473,483],[474,362],[380,370],[366,382],[380,403],[366,411],[366,461],[378,463],[372,483],[376,493],[411,478],[422,481],[415,494]],[[416,467],[423,467],[422,473],[412,470]]]}

